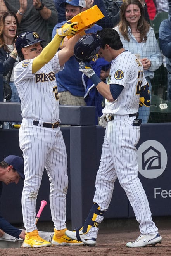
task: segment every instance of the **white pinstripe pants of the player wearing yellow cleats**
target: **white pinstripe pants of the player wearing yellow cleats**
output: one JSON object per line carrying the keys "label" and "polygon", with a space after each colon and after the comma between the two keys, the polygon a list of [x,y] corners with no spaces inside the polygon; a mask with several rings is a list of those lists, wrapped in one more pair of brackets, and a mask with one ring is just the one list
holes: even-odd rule
{"label": "white pinstripe pants of the player wearing yellow cleats", "polygon": [[[54,227],[66,228],[66,193],[68,186],[66,147],[60,128],[43,128],[23,119],[19,129],[24,158],[22,214],[26,232],[36,228],[36,199],[44,168],[50,180],[50,209]],[[48,191],[48,184],[47,184]]]}

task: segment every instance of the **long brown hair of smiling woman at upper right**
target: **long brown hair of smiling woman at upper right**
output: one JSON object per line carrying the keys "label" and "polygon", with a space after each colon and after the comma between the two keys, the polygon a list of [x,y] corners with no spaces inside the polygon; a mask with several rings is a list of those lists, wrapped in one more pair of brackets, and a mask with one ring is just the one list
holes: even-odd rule
{"label": "long brown hair of smiling woman at upper right", "polygon": [[121,21],[119,23],[119,31],[123,35],[123,37],[129,42],[130,38],[128,35],[128,26],[129,22],[125,18],[125,12],[126,8],[130,4],[135,4],[140,8],[140,19],[137,24],[137,31],[140,32],[140,42],[146,42],[147,41],[147,32],[149,31],[150,25],[149,23],[145,20],[144,17],[144,10],[142,7],[142,4],[140,3],[139,0],[125,0],[123,4],[121,5],[121,10],[120,10],[120,16],[121,16]]}

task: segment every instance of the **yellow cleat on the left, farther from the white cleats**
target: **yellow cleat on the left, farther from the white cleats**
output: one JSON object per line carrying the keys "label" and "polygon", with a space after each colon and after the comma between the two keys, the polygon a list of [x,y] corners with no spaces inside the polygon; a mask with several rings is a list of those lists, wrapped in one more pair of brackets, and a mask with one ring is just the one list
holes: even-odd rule
{"label": "yellow cleat on the left, farther from the white cleats", "polygon": [[48,247],[51,243],[41,238],[38,234],[38,230],[32,232],[26,232],[25,240],[21,247],[35,248],[35,247]]}

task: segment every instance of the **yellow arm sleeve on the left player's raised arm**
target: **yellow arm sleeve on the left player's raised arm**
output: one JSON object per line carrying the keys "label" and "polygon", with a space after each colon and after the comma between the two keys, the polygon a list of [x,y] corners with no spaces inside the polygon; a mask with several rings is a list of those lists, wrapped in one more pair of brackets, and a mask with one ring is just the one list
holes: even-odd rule
{"label": "yellow arm sleeve on the left player's raised arm", "polygon": [[33,60],[32,73],[36,73],[41,67],[47,64],[56,54],[62,36],[55,35],[48,45],[42,50],[41,54]]}

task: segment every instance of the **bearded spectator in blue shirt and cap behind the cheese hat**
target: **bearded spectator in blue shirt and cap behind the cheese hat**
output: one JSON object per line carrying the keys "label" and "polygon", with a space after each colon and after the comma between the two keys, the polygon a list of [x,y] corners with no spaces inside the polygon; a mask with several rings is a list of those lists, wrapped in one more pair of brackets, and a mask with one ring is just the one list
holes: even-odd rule
{"label": "bearded spectator in blue shirt and cap behind the cheese hat", "polygon": [[[60,8],[64,8],[66,13],[66,20],[72,19],[77,14],[86,10],[86,2],[79,0],[66,0],[66,2],[60,3]],[[52,38],[56,34],[56,29],[66,23],[66,20],[58,23],[53,31]],[[102,27],[95,24],[92,28],[85,31],[85,33],[95,33],[97,30],[101,30]],[[67,43],[67,37],[64,39],[63,45],[60,48],[65,47]],[[59,92],[59,104],[61,105],[75,105],[86,106],[84,95],[85,87],[82,81],[82,72],[79,71],[79,62],[74,56],[72,56],[59,73],[56,75],[58,92]]]}

